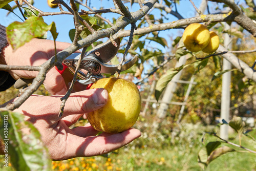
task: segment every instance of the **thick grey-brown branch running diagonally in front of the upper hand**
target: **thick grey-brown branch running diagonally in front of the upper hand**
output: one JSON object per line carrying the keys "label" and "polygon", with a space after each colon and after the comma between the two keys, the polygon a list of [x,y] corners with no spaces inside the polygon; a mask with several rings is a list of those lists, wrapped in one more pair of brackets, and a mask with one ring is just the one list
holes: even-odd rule
{"label": "thick grey-brown branch running diagonally in front of the upper hand", "polygon": [[[136,22],[138,19],[144,16],[145,13],[147,13],[153,5],[157,2],[157,0],[148,0],[148,2],[143,6],[142,9],[136,11],[133,13],[134,19],[126,19],[126,20],[118,20],[117,23],[111,27],[110,29],[105,29],[101,31],[96,31],[97,34],[92,34],[90,37],[88,36],[85,39],[79,40],[78,45],[74,46],[71,44],[68,48],[58,52],[57,58],[59,61],[62,61],[66,57],[68,57],[70,54],[74,53],[75,51],[79,50],[82,47],[87,47],[92,44],[92,42],[103,38],[103,37],[109,37],[111,34],[117,33],[119,30],[123,29],[127,25]],[[55,63],[55,56],[53,56],[51,59],[47,60],[45,63],[43,63],[40,66],[40,70],[38,75],[33,79],[32,84],[27,88],[26,92],[24,92],[17,100],[12,102],[8,105],[9,110],[14,110],[19,108],[20,105],[22,105],[44,82],[45,76],[47,71],[49,71]]]}

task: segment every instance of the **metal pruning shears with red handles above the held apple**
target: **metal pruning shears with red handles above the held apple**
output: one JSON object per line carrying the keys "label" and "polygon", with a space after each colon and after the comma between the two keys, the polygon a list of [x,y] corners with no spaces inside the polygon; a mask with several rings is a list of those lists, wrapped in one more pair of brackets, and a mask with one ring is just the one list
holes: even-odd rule
{"label": "metal pruning shears with red handles above the held apple", "polygon": [[[89,85],[96,82],[98,79],[103,78],[102,74],[114,74],[117,71],[118,65],[109,65],[109,62],[118,52],[120,46],[120,38],[114,39],[116,42],[116,46],[112,44],[111,41],[107,41],[104,44],[100,44],[92,50],[88,51],[84,54],[84,57],[81,60],[78,74],[77,74],[77,82]],[[68,69],[72,74],[75,73],[75,69],[77,66],[77,61],[80,58],[81,53],[73,53],[68,56],[65,60],[62,61],[63,70],[58,70],[55,68],[60,74],[62,74],[66,69]],[[125,71],[131,68],[138,59],[138,54],[136,54],[133,58],[123,63],[121,67],[121,71]],[[86,70],[87,73],[84,73],[82,70]],[[33,79],[24,79],[19,78],[14,87],[16,89],[22,88],[28,83],[31,83]]]}

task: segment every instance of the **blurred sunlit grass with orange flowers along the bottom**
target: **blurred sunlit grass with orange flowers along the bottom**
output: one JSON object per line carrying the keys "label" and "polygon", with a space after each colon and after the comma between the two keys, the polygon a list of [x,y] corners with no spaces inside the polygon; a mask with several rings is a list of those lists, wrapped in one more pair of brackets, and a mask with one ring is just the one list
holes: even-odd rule
{"label": "blurred sunlit grass with orange flowers along the bottom", "polygon": [[[6,94],[2,93],[0,101],[11,98],[13,93],[17,92],[10,89]],[[76,126],[85,123],[86,121],[80,120]],[[142,136],[132,143],[108,155],[53,161],[52,170],[203,170],[197,161],[198,152],[208,142],[218,140],[207,134],[202,143],[203,134],[218,133],[218,127],[205,126],[200,122],[181,123],[172,138],[174,126],[175,123],[170,117],[164,120],[158,120],[154,115],[140,117],[134,127],[142,132]],[[253,137],[256,139],[255,133]],[[231,142],[239,143],[237,133],[229,134],[229,139]],[[256,151],[256,142],[245,136],[242,136],[242,145]],[[5,167],[4,159],[0,158],[0,170],[14,169],[11,164]],[[228,153],[212,161],[205,170],[256,170],[256,154]]]}

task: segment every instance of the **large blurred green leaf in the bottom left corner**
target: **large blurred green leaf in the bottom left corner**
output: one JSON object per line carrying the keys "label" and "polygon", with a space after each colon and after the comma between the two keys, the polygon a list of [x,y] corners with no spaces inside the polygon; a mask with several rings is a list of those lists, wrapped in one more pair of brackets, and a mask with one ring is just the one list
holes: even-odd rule
{"label": "large blurred green leaf in the bottom left corner", "polygon": [[40,140],[34,125],[25,121],[23,114],[0,111],[0,116],[0,135],[4,142],[8,142],[6,153],[10,156],[12,166],[25,171],[51,170],[48,149]]}

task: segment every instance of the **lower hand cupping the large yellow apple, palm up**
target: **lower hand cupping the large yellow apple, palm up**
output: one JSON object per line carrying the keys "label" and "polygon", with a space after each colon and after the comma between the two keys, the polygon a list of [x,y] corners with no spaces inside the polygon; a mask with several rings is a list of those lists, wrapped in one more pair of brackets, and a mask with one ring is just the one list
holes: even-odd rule
{"label": "lower hand cupping the large yellow apple, palm up", "polygon": [[95,136],[99,132],[89,123],[69,129],[84,113],[105,105],[108,99],[108,92],[105,89],[72,93],[61,118],[58,117],[61,103],[59,98],[59,96],[32,95],[14,111],[23,113],[25,119],[38,129],[41,140],[47,145],[53,160],[106,154],[141,135],[139,130],[130,129],[119,134],[102,133]]}

